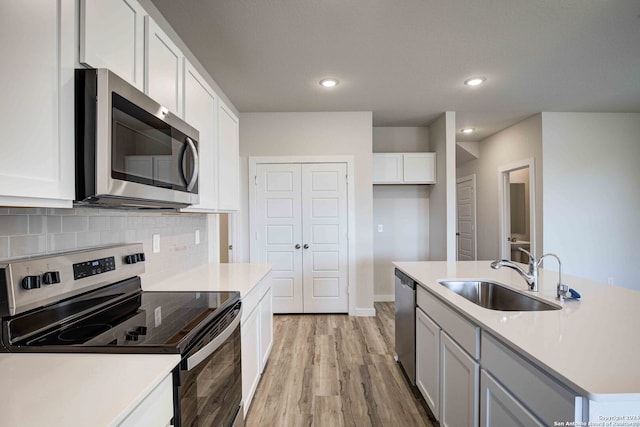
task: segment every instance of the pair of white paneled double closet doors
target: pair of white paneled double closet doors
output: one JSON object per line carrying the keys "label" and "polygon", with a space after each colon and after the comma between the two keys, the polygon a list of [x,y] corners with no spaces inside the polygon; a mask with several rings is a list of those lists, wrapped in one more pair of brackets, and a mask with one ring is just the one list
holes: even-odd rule
{"label": "pair of white paneled double closet doors", "polygon": [[256,255],[274,313],[349,311],[347,165],[256,165]]}

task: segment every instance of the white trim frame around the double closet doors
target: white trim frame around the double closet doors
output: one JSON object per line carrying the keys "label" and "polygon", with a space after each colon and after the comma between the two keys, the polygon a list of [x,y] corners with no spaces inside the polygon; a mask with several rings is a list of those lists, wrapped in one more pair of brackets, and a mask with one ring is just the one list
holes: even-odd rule
{"label": "white trim frame around the double closet doors", "polygon": [[347,261],[348,284],[347,299],[349,301],[349,316],[356,316],[356,221],[355,221],[355,172],[353,156],[249,156],[249,261],[258,262],[256,245],[253,244],[256,229],[256,186],[255,176],[258,164],[278,163],[346,163],[347,165]]}

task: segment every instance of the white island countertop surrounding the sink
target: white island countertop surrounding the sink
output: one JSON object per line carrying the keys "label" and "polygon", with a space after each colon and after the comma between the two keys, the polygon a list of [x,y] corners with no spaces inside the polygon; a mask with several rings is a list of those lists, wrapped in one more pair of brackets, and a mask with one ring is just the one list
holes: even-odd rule
{"label": "white island countertop surrounding the sink", "polygon": [[555,298],[558,273],[540,270],[537,296],[562,305],[562,310],[507,312],[479,307],[438,284],[442,279],[477,278],[527,289],[514,270],[493,270],[489,264],[394,263],[580,394],[592,400],[640,401],[640,292],[563,275],[562,281],[576,289],[582,299],[560,303]]}

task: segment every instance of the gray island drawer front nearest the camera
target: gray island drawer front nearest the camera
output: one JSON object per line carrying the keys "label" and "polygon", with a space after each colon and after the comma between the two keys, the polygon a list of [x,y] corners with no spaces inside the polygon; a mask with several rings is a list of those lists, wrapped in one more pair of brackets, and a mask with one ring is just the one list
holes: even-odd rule
{"label": "gray island drawer front nearest the camera", "polygon": [[484,331],[481,363],[545,425],[582,421],[582,397]]}

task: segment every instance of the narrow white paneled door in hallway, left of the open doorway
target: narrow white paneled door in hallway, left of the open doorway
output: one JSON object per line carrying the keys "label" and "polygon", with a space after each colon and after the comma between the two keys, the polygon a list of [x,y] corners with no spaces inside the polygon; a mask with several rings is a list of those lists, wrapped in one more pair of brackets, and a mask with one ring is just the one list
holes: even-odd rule
{"label": "narrow white paneled door in hallway, left of the open doorway", "polygon": [[475,187],[475,175],[459,178],[457,181],[458,261],[473,261],[476,259]]}

